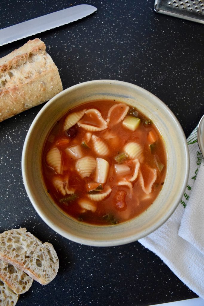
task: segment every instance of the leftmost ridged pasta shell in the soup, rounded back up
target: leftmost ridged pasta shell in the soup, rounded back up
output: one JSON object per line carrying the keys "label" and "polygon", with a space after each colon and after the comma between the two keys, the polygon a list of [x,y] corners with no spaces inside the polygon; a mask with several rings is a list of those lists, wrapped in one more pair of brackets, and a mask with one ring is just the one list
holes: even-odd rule
{"label": "leftmost ridged pasta shell in the soup, rounded back up", "polygon": [[62,173],[62,158],[58,148],[54,147],[47,152],[46,162],[57,174]]}

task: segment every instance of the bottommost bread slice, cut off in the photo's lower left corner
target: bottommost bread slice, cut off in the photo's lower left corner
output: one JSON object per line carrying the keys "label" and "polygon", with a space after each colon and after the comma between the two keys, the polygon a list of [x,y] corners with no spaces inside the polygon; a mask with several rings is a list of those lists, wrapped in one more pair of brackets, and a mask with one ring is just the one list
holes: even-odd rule
{"label": "bottommost bread slice, cut off in the photo's lower left corner", "polygon": [[15,306],[18,300],[18,294],[14,293],[1,279],[0,279],[0,305],[1,306]]}

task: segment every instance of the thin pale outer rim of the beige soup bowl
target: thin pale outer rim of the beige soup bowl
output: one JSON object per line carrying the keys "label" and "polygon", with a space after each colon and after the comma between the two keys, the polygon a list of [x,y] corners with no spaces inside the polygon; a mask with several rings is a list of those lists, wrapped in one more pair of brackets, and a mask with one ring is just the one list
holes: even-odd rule
{"label": "thin pale outer rim of the beige soup bowl", "polygon": [[[159,219],[159,221],[157,223],[155,223],[154,225],[150,226],[148,229],[144,230],[143,233],[141,233],[140,235],[138,234],[133,234],[132,236],[128,236],[125,238],[120,238],[120,239],[114,239],[114,240],[91,240],[91,239],[84,239],[81,238],[79,235],[75,235],[75,234],[71,234],[65,230],[63,230],[60,226],[56,225],[54,222],[52,222],[49,218],[46,218],[46,216],[44,216],[42,209],[39,207],[38,204],[35,203],[32,193],[30,192],[28,183],[27,183],[27,174],[25,172],[25,168],[26,168],[26,159],[25,159],[25,155],[26,155],[26,151],[27,151],[27,145],[28,145],[28,140],[30,138],[30,134],[32,133],[32,129],[33,127],[35,127],[36,122],[38,121],[38,119],[41,117],[41,115],[46,111],[46,109],[48,109],[50,107],[50,105],[52,103],[54,103],[54,101],[56,99],[58,99],[60,96],[63,96],[67,93],[69,93],[69,91],[72,91],[74,89],[80,89],[80,87],[82,86],[86,86],[87,84],[97,84],[97,83],[111,83],[111,84],[123,84],[123,85],[129,85],[131,87],[134,87],[136,90],[143,92],[145,95],[147,95],[148,97],[150,97],[150,99],[156,99],[163,108],[165,108],[165,110],[171,115],[172,119],[176,122],[177,128],[180,132],[180,135],[182,136],[183,140],[184,140],[184,151],[185,151],[185,179],[183,181],[182,187],[180,188],[180,191],[178,192],[177,195],[177,199],[178,201],[175,201],[175,203],[170,207],[170,209],[168,210],[168,212]],[[27,135],[25,137],[24,140],[24,146],[23,146],[23,150],[22,150],[22,158],[21,158],[21,170],[22,170],[22,177],[23,177],[23,182],[24,182],[24,187],[25,190],[27,192],[28,198],[32,203],[32,206],[34,207],[35,211],[38,213],[38,215],[42,218],[42,220],[55,232],[57,232],[58,234],[60,234],[61,236],[80,243],[80,244],[85,244],[85,245],[90,245],[90,246],[116,246],[116,245],[122,245],[122,244],[128,244],[134,241],[137,241],[143,237],[146,237],[147,235],[149,235],[150,233],[154,232],[155,230],[157,230],[160,226],[162,226],[162,224],[164,224],[169,217],[172,215],[172,213],[176,210],[177,206],[180,203],[180,200],[182,198],[182,196],[184,195],[184,191],[185,188],[187,186],[187,180],[188,180],[188,175],[189,175],[189,168],[190,168],[190,160],[189,160],[189,151],[188,151],[188,146],[187,146],[187,141],[186,141],[186,136],[184,134],[184,131],[180,125],[180,122],[178,121],[178,119],[176,118],[176,116],[173,114],[173,112],[169,109],[169,107],[163,102],[161,101],[157,96],[155,96],[154,94],[152,94],[150,91],[129,83],[129,82],[124,82],[124,81],[120,81],[120,80],[91,80],[91,81],[86,81],[86,82],[82,82],[79,84],[75,84],[69,88],[64,89],[63,91],[61,91],[60,93],[58,93],[57,95],[55,95],[53,98],[51,98],[43,107],[42,109],[38,112],[38,114],[36,115],[36,117],[34,118],[34,120],[32,121],[32,124],[30,125]],[[135,237],[136,236],[136,237]]]}

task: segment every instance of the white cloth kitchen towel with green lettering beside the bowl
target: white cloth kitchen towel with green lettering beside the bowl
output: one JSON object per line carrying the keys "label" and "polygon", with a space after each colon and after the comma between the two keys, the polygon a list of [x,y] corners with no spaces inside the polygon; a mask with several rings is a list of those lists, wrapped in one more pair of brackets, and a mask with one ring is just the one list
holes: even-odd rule
{"label": "white cloth kitchen towel with green lettering beside the bowl", "polygon": [[139,242],[157,254],[184,284],[204,299],[204,253],[201,252],[204,246],[204,212],[201,214],[204,210],[204,164],[197,144],[197,128],[187,143],[190,173],[184,196],[171,217]]}

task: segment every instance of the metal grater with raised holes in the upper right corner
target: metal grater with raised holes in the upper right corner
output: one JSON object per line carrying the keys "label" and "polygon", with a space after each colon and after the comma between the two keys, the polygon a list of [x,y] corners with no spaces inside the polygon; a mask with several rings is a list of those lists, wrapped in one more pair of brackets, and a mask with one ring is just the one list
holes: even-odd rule
{"label": "metal grater with raised holes in the upper right corner", "polygon": [[155,0],[154,10],[204,24],[204,0]]}

